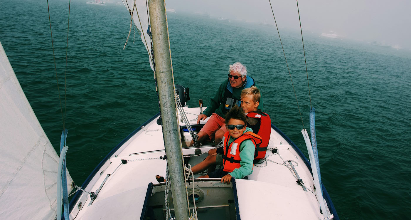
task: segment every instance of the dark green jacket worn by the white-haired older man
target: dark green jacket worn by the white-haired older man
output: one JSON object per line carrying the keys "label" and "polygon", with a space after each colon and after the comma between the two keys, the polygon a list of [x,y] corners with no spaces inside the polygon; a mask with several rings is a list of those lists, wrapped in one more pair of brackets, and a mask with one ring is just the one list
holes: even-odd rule
{"label": "dark green jacket worn by the white-haired older man", "polygon": [[[251,77],[247,76],[247,80],[253,80]],[[205,114],[207,117],[210,117],[212,113],[216,113],[217,115],[221,116],[222,118],[225,117],[224,113],[224,108],[225,108],[225,102],[223,103],[223,98],[224,98],[224,91],[227,88],[227,85],[229,83],[229,80],[226,79],[224,80],[223,83],[221,83],[220,87],[217,90],[217,93],[215,93],[215,96],[213,98],[210,98],[210,103],[208,103],[207,109],[204,110],[203,114]],[[258,86],[254,82],[254,86],[258,88]],[[242,86],[240,88],[233,88],[233,98],[236,100],[240,100],[241,98],[241,91],[244,89],[245,86]],[[263,110],[263,96],[261,95],[260,98],[260,104],[257,107],[258,109]]]}

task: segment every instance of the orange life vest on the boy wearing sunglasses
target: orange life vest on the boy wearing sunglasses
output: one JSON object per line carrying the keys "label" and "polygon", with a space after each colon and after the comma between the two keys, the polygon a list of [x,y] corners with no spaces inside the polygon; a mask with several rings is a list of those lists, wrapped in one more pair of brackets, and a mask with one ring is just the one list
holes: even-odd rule
{"label": "orange life vest on the boy wearing sunglasses", "polygon": [[[253,132],[245,132],[240,137],[235,139],[233,142],[229,143],[230,139],[229,132],[224,134],[224,142],[223,142],[223,171],[232,172],[236,168],[240,168],[240,144],[242,141],[251,140],[255,147],[261,144],[261,137]],[[254,167],[254,164],[253,164]]]}

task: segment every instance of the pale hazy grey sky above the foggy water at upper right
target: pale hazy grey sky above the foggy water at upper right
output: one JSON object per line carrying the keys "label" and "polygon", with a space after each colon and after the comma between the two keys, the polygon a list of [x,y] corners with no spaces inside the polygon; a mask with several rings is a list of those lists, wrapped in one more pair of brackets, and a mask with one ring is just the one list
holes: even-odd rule
{"label": "pale hazy grey sky above the foggy water at upper right", "polygon": [[[295,0],[271,1],[277,25],[299,29]],[[166,0],[178,11],[206,12],[211,16],[274,23],[268,0]],[[411,0],[299,0],[303,30],[337,32],[367,42],[411,48]]]}

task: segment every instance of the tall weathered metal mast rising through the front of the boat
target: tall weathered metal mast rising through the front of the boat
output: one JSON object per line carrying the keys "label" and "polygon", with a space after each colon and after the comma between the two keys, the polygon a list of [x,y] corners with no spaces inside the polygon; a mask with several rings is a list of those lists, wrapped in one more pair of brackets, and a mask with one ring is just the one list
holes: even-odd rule
{"label": "tall weathered metal mast rising through the front of the boat", "polygon": [[174,98],[174,81],[171,72],[169,34],[164,0],[149,0],[153,41],[155,76],[166,148],[169,181],[177,220],[188,220],[188,202],[185,192],[184,169],[180,132]]}

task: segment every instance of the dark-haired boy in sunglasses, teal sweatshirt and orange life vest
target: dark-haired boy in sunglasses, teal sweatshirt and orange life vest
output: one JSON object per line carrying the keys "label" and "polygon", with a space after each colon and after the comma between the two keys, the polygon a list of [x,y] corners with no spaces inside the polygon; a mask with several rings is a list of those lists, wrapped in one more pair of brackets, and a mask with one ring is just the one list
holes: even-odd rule
{"label": "dark-haired boy in sunglasses, teal sweatshirt and orange life vest", "polygon": [[234,106],[226,113],[225,124],[228,131],[223,136],[223,166],[199,178],[221,178],[222,183],[228,184],[231,177],[242,179],[252,173],[254,151],[262,140],[251,128],[246,127],[246,120],[240,107]]}

